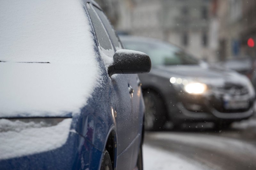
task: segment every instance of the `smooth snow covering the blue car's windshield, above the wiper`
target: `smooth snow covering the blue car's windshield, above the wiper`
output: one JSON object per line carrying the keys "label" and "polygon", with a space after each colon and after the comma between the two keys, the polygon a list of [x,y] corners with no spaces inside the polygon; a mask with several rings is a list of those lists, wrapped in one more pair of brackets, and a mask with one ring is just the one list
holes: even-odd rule
{"label": "smooth snow covering the blue car's windshield, above the wiper", "polygon": [[2,0],[0,60],[80,63],[92,53],[80,0]]}

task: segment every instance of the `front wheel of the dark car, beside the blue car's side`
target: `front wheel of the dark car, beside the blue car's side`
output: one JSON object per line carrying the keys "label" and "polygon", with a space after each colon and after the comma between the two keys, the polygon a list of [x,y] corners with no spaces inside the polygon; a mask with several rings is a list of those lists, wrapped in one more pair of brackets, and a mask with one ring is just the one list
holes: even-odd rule
{"label": "front wheel of the dark car, beside the blue car's side", "polygon": [[166,112],[162,97],[151,90],[143,91],[143,98],[145,103],[145,130],[163,130],[166,122]]}

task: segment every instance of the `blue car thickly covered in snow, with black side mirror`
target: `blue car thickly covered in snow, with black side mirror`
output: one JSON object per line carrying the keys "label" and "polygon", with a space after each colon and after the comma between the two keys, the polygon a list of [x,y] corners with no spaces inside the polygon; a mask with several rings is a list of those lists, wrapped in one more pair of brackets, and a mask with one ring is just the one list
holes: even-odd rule
{"label": "blue car thickly covered in snow, with black side mirror", "polygon": [[3,0],[0,23],[0,169],[142,169],[148,55],[91,0]]}

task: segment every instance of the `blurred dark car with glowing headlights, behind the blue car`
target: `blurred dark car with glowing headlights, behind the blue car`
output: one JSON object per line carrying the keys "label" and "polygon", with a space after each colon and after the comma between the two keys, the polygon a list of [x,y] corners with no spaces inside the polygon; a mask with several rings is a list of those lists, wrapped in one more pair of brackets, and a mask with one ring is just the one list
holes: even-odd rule
{"label": "blurred dark car with glowing headlights, behind the blue car", "polygon": [[214,122],[225,128],[252,116],[255,92],[246,76],[212,68],[167,42],[120,38],[125,48],[146,52],[152,61],[150,73],[139,75],[146,106],[145,129],[161,130],[166,122],[174,127]]}

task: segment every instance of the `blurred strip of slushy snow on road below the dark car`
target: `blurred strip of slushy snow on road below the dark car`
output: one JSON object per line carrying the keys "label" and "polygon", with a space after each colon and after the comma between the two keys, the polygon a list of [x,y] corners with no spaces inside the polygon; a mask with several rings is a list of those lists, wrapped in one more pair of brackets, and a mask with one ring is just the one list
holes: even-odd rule
{"label": "blurred strip of slushy snow on road below the dark car", "polygon": [[[225,152],[239,159],[244,159],[241,156],[256,156],[256,147],[245,141],[228,138],[224,136],[206,135],[206,134],[191,134],[191,133],[152,133],[149,135],[158,140],[167,140],[176,143],[183,143],[191,147],[198,147],[206,150]],[[236,153],[240,153],[237,155]]]}

